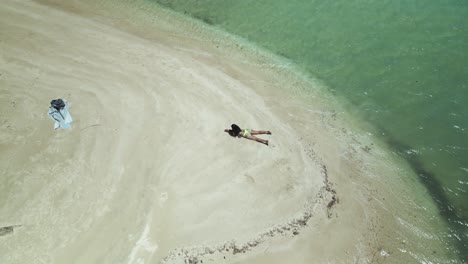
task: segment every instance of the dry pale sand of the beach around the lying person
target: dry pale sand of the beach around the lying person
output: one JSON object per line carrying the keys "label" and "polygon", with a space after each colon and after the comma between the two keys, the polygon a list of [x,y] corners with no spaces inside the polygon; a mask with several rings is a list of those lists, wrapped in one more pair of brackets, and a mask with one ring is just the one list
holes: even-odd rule
{"label": "dry pale sand of the beach around the lying person", "polygon": [[[170,22],[142,38],[87,10],[0,6],[0,263],[410,257],[388,238],[392,191],[364,176],[378,147],[304,103],[299,77]],[[75,121],[54,131],[59,97]],[[271,145],[229,137],[234,122]]]}

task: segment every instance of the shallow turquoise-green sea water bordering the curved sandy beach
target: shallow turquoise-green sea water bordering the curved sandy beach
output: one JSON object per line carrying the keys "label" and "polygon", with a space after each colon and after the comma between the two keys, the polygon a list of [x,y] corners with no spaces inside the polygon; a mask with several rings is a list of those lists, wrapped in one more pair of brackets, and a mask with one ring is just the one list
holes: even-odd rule
{"label": "shallow turquoise-green sea water bordering the curved sandy beach", "polygon": [[323,81],[408,160],[468,262],[468,1],[151,1]]}

